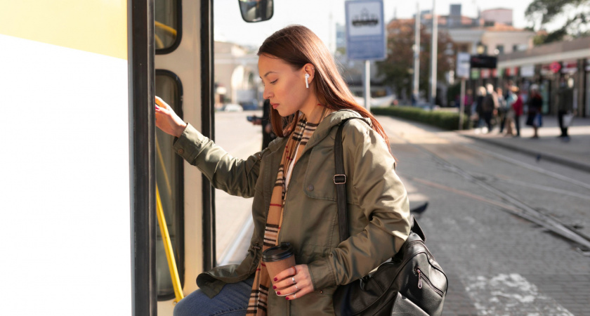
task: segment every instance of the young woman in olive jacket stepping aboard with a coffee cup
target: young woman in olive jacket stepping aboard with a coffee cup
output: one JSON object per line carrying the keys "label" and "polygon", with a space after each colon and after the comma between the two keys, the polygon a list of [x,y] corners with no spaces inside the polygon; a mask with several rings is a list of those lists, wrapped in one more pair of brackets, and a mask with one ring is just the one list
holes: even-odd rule
{"label": "young woman in olive jacket stepping aboard with a coffee cup", "polygon": [[[268,37],[258,56],[279,138],[245,160],[230,157],[156,99],[157,126],[178,138],[176,152],[214,187],[254,197],[247,257],[199,275],[199,290],[176,305],[178,316],[334,315],[336,287],[391,258],[409,235],[407,193],[387,136],[355,103],[322,41],[306,27],[289,26]],[[350,117],[364,119],[343,129],[350,237],[340,242],[333,147],[337,127]],[[297,264],[269,276],[262,252],[281,242],[294,247]]]}

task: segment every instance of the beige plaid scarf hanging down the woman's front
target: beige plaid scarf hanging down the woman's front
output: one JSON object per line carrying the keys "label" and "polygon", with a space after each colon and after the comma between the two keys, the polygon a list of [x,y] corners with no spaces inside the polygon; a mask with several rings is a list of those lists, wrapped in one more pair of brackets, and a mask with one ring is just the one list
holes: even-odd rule
{"label": "beige plaid scarf hanging down the woman's front", "polygon": [[[278,236],[283,220],[284,196],[289,187],[289,180],[291,180],[291,171],[293,171],[293,166],[299,157],[301,157],[303,148],[306,147],[313,132],[327,114],[328,111],[324,107],[320,121],[315,124],[308,122],[304,114],[299,114],[299,121],[297,121],[295,131],[291,133],[291,138],[287,140],[287,145],[284,147],[279,172],[277,173],[277,180],[275,181],[273,194],[270,196],[270,206],[268,208],[268,217],[266,218],[266,228],[264,230],[263,251],[278,244]],[[269,289],[270,276],[268,275],[265,264],[261,260],[258,263],[258,268],[256,268],[254,284],[252,284],[252,292],[246,312],[247,315],[266,315]]]}

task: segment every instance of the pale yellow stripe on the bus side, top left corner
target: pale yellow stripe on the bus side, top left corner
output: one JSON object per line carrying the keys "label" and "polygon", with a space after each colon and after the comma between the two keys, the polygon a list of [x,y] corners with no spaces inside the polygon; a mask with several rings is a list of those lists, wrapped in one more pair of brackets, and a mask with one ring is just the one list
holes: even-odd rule
{"label": "pale yellow stripe on the bus side, top left corner", "polygon": [[126,60],[127,1],[4,1],[0,34]]}

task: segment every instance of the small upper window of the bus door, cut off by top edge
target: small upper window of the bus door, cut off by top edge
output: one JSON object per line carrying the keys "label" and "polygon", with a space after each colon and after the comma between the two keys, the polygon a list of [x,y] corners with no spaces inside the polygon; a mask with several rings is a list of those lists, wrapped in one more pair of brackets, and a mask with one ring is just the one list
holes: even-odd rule
{"label": "small upper window of the bus door, cut off by top edge", "polygon": [[155,0],[156,53],[173,51],[181,42],[181,1]]}

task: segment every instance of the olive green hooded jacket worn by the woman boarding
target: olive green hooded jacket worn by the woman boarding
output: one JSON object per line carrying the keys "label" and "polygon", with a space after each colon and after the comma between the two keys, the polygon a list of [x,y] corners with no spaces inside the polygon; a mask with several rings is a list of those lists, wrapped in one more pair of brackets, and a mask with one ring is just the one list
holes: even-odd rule
{"label": "olive green hooded jacket worn by the woman boarding", "polygon": [[[294,166],[285,197],[278,242],[293,245],[296,263],[308,265],[315,291],[293,301],[270,291],[268,315],[334,315],[336,287],[367,275],[391,258],[409,235],[407,193],[395,173],[395,161],[383,138],[369,126],[370,120],[365,119],[366,124],[353,119],[342,133],[350,238],[339,241],[334,137],[336,127],[348,117],[360,115],[340,110],[317,126]],[[286,143],[287,138],[277,138],[267,149],[242,160],[190,125],[174,143],[176,152],[197,166],[211,185],[231,195],[254,197],[254,234],[244,261],[197,277],[199,288],[209,297],[225,283],[240,282],[256,272],[270,195]]]}

